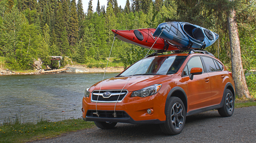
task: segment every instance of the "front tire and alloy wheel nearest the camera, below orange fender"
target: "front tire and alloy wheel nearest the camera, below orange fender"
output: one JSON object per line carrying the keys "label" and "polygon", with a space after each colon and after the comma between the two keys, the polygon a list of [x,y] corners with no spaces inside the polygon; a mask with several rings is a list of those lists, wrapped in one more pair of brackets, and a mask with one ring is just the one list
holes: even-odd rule
{"label": "front tire and alloy wheel nearest the camera, below orange fender", "polygon": [[170,97],[166,108],[165,123],[160,124],[161,131],[168,135],[180,134],[186,121],[186,110],[178,97]]}

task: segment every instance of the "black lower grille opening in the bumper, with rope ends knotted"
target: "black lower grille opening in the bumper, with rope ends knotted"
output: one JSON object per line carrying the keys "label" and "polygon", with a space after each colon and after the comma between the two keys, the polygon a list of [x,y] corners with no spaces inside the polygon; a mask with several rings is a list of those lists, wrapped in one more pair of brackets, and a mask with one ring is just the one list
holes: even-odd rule
{"label": "black lower grille opening in the bumper, with rope ends knotted", "polygon": [[101,111],[101,110],[98,110],[99,117],[96,114],[93,114],[93,113],[96,113],[96,110],[88,110],[87,114],[86,114],[86,117],[90,117],[90,118],[93,118],[93,117],[94,118],[108,118],[108,119],[129,118],[130,117],[124,111],[116,111],[117,117],[114,117],[114,115],[113,115],[114,111]]}

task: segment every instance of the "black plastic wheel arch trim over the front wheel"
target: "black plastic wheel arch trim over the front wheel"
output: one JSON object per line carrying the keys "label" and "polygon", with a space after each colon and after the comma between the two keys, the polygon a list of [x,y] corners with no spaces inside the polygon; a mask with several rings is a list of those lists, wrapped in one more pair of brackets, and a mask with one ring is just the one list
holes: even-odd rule
{"label": "black plastic wheel arch trim over the front wheel", "polygon": [[[185,101],[185,103],[182,101],[182,99],[181,99],[181,101],[183,102],[183,104],[184,104],[184,106],[185,106],[185,110],[186,110],[186,112],[187,112],[187,95],[186,95],[185,91],[184,91],[181,87],[173,87],[173,88],[170,90],[170,92],[168,93],[167,97],[166,97],[165,106],[164,106],[164,114],[165,114],[165,115],[166,115],[166,108],[167,108],[168,101],[169,101],[170,97],[172,97],[172,94],[173,94],[175,91],[180,91],[180,92],[183,93],[183,96],[185,97],[185,100],[186,100],[186,101]],[[181,96],[182,96],[182,95],[181,95]],[[179,96],[175,96],[175,97],[180,98]]]}

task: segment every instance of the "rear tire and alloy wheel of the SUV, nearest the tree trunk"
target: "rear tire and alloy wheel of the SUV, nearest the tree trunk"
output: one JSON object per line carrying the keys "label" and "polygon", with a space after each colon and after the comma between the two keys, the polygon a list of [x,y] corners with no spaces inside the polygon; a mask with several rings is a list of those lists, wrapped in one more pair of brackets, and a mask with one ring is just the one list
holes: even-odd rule
{"label": "rear tire and alloy wheel of the SUV, nearest the tree trunk", "polygon": [[218,109],[218,112],[222,117],[230,117],[233,115],[235,107],[234,101],[233,93],[229,89],[226,89],[223,106]]}

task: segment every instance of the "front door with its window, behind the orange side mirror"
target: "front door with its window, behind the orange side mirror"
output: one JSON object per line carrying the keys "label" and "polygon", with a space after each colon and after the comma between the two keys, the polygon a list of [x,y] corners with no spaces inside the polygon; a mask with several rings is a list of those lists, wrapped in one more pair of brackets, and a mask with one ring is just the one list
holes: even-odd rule
{"label": "front door with its window, behind the orange side mirror", "polygon": [[188,90],[188,110],[208,106],[211,104],[211,83],[209,75],[204,72],[200,75],[194,75],[193,80],[189,79],[190,70],[192,68],[202,68],[203,63],[200,56],[193,56],[187,62],[183,69],[184,80]]}

